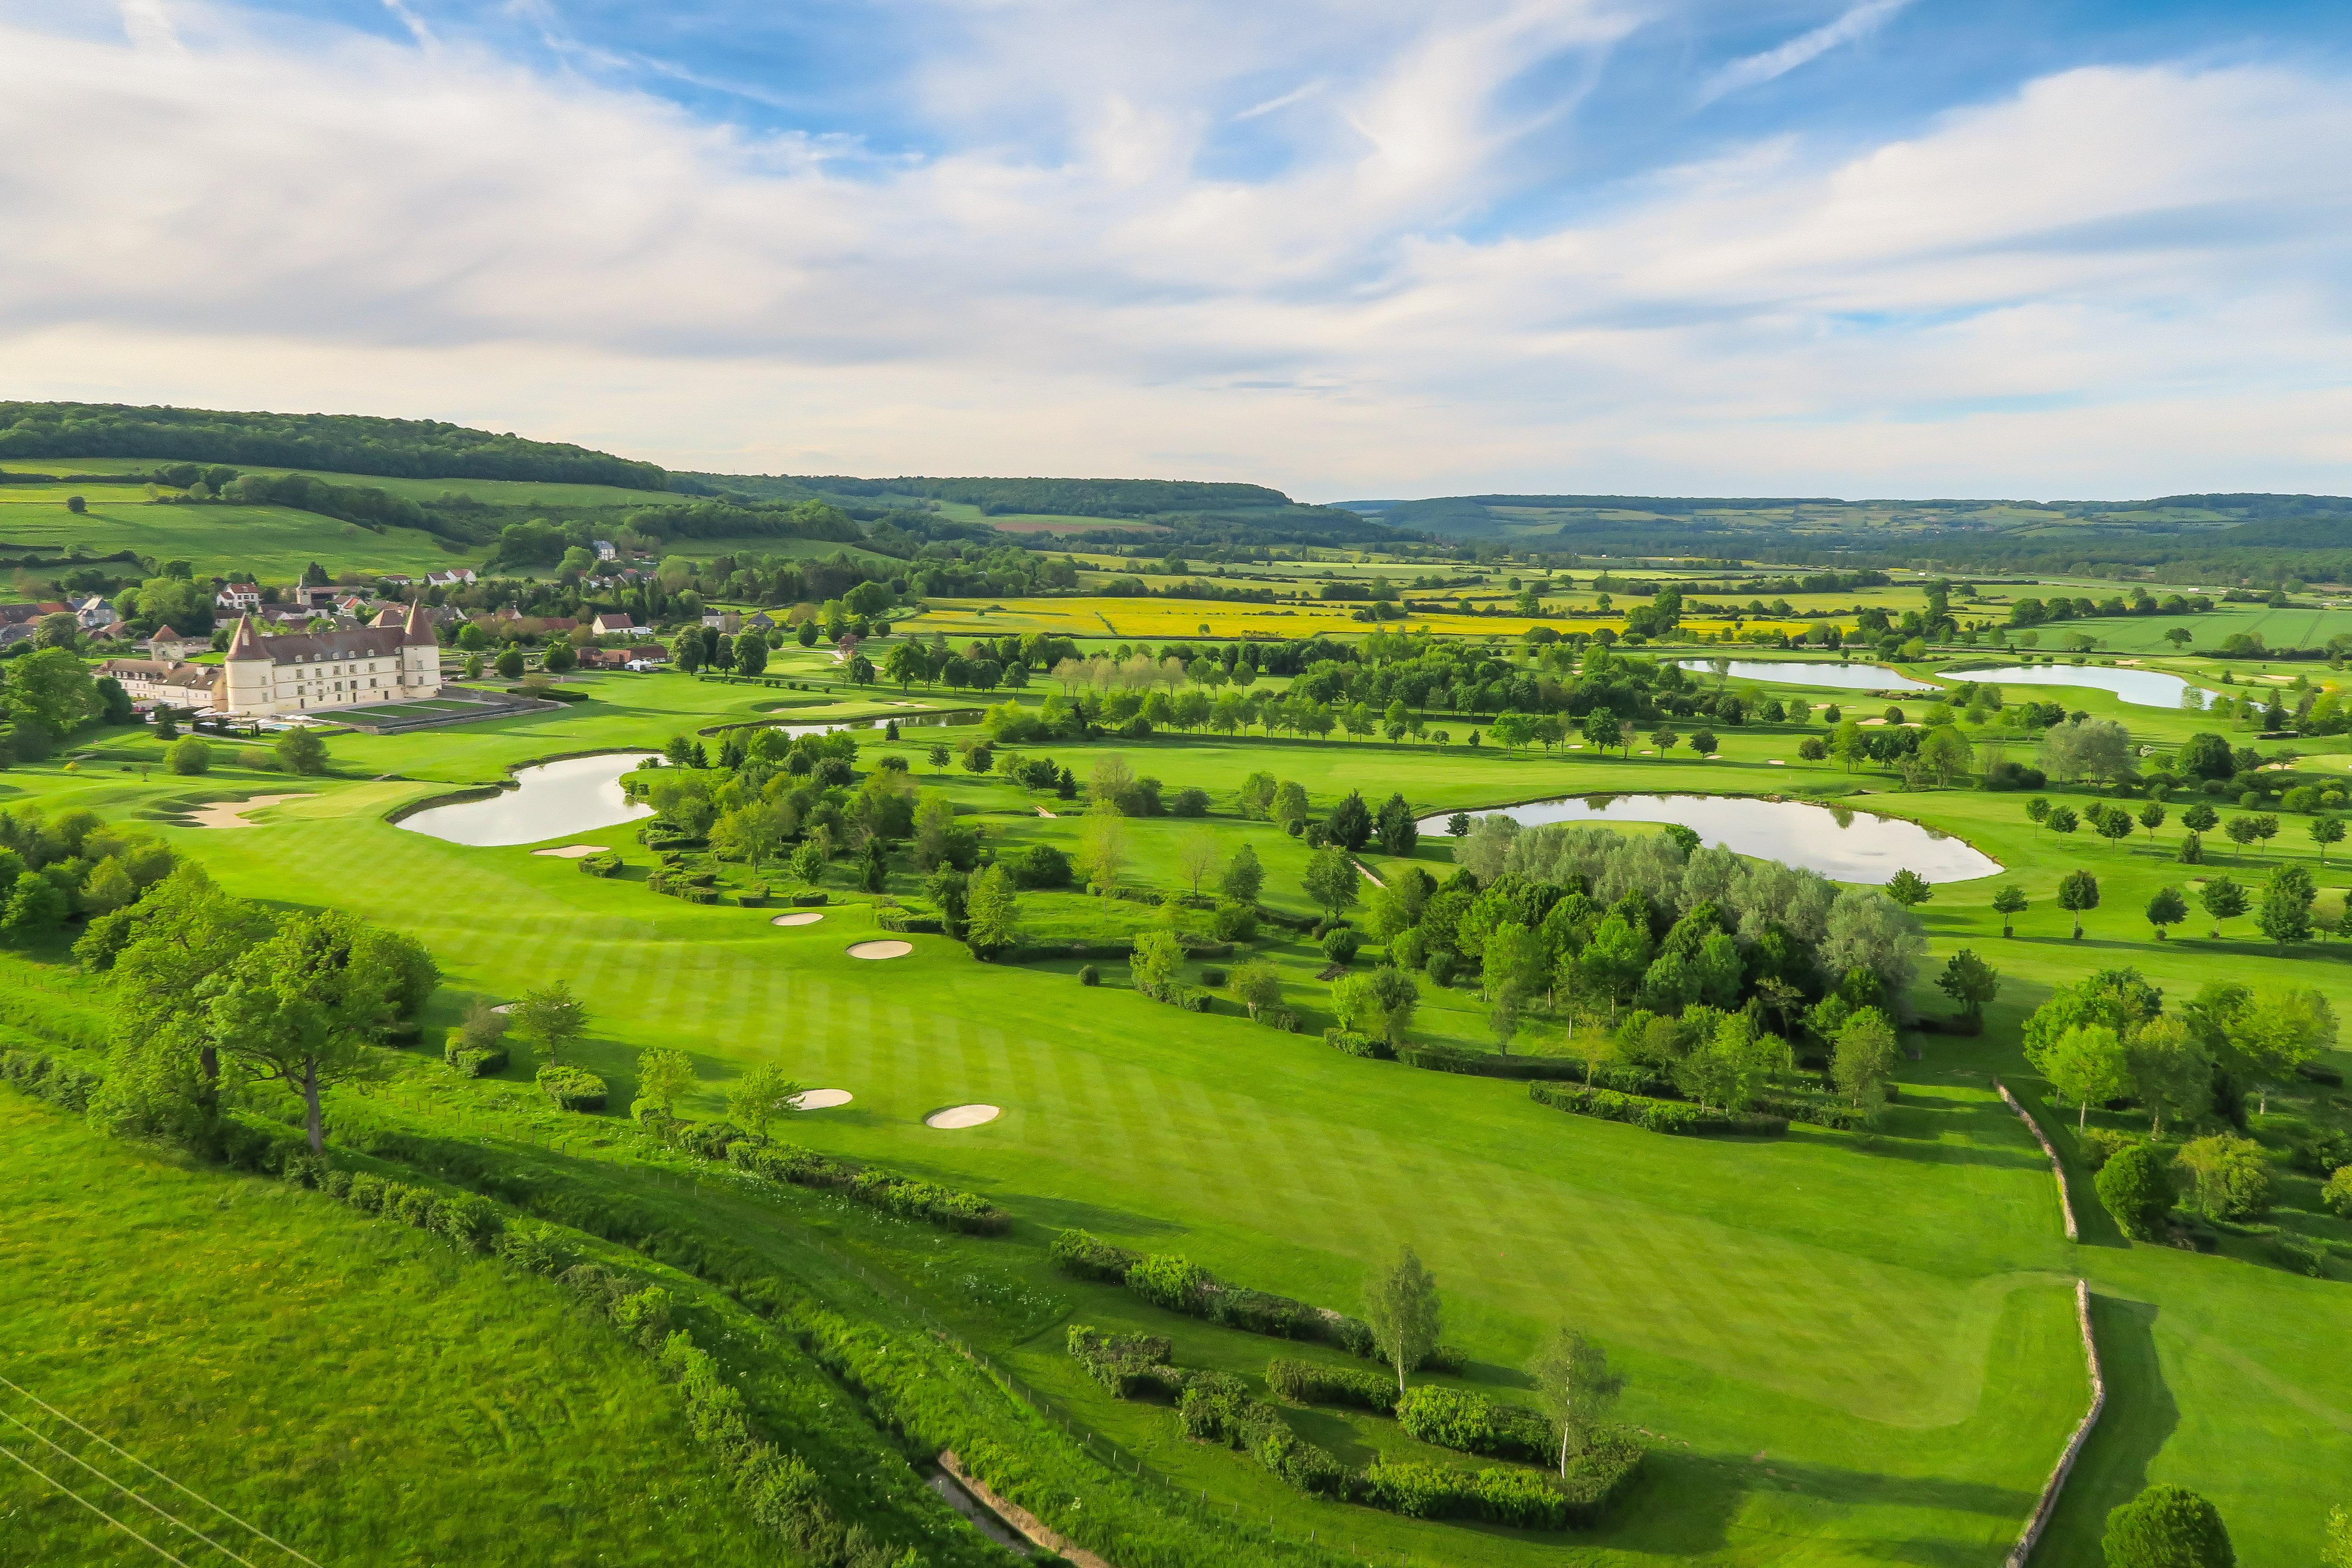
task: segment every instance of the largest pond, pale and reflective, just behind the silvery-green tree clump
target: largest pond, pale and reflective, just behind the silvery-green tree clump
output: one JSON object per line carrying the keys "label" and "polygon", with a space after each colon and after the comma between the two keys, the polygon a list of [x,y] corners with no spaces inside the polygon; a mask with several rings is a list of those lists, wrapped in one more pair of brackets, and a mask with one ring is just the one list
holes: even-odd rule
{"label": "largest pond, pale and reflective, just behind the silvery-green tree clump", "polygon": [[[1849,806],[1816,806],[1797,799],[1752,799],[1740,795],[1571,795],[1526,806],[1503,806],[1515,823],[1583,823],[1606,827],[1618,823],[1679,823],[1700,842],[1719,844],[1757,860],[1780,860],[1820,872],[1835,882],[1882,884],[1900,870],[1929,882],[1971,882],[1994,877],[1999,860],[1980,853],[1966,839],[1877,816]],[[1472,811],[1470,818],[1491,816]],[[1421,823],[1421,832],[1442,835],[1444,816]]]}

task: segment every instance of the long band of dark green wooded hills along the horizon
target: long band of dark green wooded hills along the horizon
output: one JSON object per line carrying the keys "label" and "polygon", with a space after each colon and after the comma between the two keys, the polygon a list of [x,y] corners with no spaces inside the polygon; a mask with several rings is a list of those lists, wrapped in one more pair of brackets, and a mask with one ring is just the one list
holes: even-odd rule
{"label": "long band of dark green wooded hills along the horizon", "polygon": [[[746,529],[748,520],[727,508],[767,512],[821,501],[915,538],[1051,529],[1068,541],[1136,543],[1143,531],[1171,552],[1430,541],[1543,555],[2352,581],[2352,498],[2258,491],[2150,501],[1482,494],[1310,505],[1265,484],[1207,480],[670,473],[567,442],[423,418],[89,402],[0,402],[0,458],[158,458],[666,489],[717,508],[708,520],[673,520],[673,529],[691,531]],[[503,522],[463,520],[447,531],[482,536]],[[807,515],[788,529],[762,517],[748,531],[807,536],[809,527]]]}

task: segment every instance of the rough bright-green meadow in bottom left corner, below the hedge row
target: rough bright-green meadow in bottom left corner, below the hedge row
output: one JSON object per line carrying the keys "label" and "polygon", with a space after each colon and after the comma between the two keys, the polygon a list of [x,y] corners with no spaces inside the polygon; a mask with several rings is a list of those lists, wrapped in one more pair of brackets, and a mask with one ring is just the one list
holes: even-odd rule
{"label": "rough bright-green meadow in bottom left corner, below the hedge row", "polygon": [[[289,1561],[66,1418],[322,1563],[750,1563],[774,1547],[652,1361],[553,1284],[325,1197],[103,1138],[0,1091],[0,1413],[238,1561]],[[26,1427],[24,1455],[174,1561],[228,1561]],[[155,1563],[0,1467],[0,1563]]]}

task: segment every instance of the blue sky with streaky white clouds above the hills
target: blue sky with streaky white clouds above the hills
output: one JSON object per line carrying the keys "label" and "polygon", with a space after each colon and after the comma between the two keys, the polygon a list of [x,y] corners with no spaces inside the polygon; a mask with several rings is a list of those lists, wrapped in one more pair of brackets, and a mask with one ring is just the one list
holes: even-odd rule
{"label": "blue sky with streaky white clouds above the hills", "polygon": [[2352,7],[0,0],[0,397],[720,473],[2352,491]]}

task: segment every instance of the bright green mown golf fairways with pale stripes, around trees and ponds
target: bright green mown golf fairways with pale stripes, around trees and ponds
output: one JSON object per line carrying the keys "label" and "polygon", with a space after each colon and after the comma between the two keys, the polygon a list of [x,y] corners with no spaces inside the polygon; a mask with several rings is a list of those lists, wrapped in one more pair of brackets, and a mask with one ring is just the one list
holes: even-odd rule
{"label": "bright green mown golf fairways with pale stripes, around trees and ponds", "polygon": [[[689,722],[774,701],[682,677],[616,682],[614,691],[628,701],[550,724],[336,738],[334,752],[369,776],[477,780],[524,757],[659,743]],[[2178,738],[2190,724],[2103,696],[2082,705],[2152,738]],[[1009,839],[1068,830],[1035,818],[1035,804],[1054,806],[1051,797],[964,773],[931,783],[922,750],[957,733],[969,731],[908,731],[896,750],[915,757],[924,788],[1004,813],[995,825]],[[174,830],[174,842],[238,891],[336,903],[423,936],[449,973],[437,1020],[454,1018],[468,994],[506,999],[569,978],[597,1018],[586,1060],[616,1079],[616,1105],[630,1098],[635,1051],[654,1044],[694,1056],[708,1084],[691,1105],[699,1114],[717,1114],[724,1084],[760,1060],[807,1084],[851,1088],[851,1107],[807,1117],[795,1135],[997,1194],[1023,1222],[1007,1251],[1084,1225],[1352,1307],[1367,1265],[1414,1241],[1449,1293],[1446,1338],[1472,1352],[1484,1378],[1508,1385],[1510,1368],[1562,1321],[1602,1338],[1632,1373],[1625,1413],[1661,1434],[1668,1458],[1604,1535],[1616,1549],[1606,1561],[1658,1552],[1719,1563],[1992,1561],[2082,1413],[2077,1274],[2100,1291],[2103,1333],[2114,1321],[2119,1410],[2150,1415],[2117,1420],[2093,1443],[2060,1521],[2072,1554],[2051,1561],[2086,1561],[2096,1519],[2145,1479],[2213,1495],[2241,1561],[2310,1561],[2333,1500],[2307,1481],[2352,1472],[2352,1371],[2326,1352],[2352,1328],[2345,1286],[2122,1248],[2112,1237],[2070,1248],[2049,1173],[1992,1095],[1990,1074],[2020,1072],[2023,1013],[2089,966],[2138,964],[2173,999],[2218,973],[2321,985],[2343,1011],[2352,1006],[2347,964],[2336,957],[2345,950],[2279,957],[2253,940],[2152,943],[2136,910],[2185,870],[2166,858],[2176,825],[2157,844],[2145,835],[2124,846],[2091,835],[2056,844],[2032,832],[2016,795],[1903,795],[1886,792],[1891,780],[1877,771],[1849,780],[1835,764],[1771,769],[1769,757],[1795,759],[1795,731],[1722,733],[1733,762],[1508,759],[1491,748],[1261,738],[1030,750],[1082,778],[1098,755],[1120,752],[1169,790],[1209,788],[1221,806],[1256,769],[1298,778],[1319,802],[1345,788],[1378,802],[1402,788],[1418,809],[1597,788],[1870,788],[1849,804],[1964,832],[2011,867],[2034,907],[2009,943],[1990,914],[1999,879],[1940,889],[1922,910],[1938,964],[1971,945],[2006,985],[1983,1041],[1924,1041],[1924,1060],[1905,1065],[1900,1110],[1867,1145],[1806,1128],[1773,1143],[1656,1138],[1543,1110],[1510,1084],[1341,1058],[1312,1034],[1275,1034],[1230,1006],[1200,1018],[1117,985],[1084,990],[1068,966],[981,966],[941,938],[917,936],[910,959],[863,964],[844,954],[873,933],[858,905],[776,931],[767,912],[696,910],[628,877],[600,882],[524,849],[461,849],[386,825],[386,809],[428,790],[416,783],[332,780],[313,799],[261,813],[261,827]],[[863,741],[887,748],[880,733]],[[268,778],[252,776],[256,785]],[[16,769],[5,783],[101,811],[193,792],[191,780],[66,776],[56,764]],[[207,788],[242,792],[228,778]],[[1272,896],[1298,900],[1296,844],[1230,818],[1216,825],[1254,835]],[[1176,832],[1183,825],[1138,823],[1141,879],[1171,875]],[[574,837],[614,842],[633,870],[649,858],[626,830]],[[2258,877],[2286,844],[2244,870]],[[1444,853],[1442,842],[1423,846],[1439,875]],[[2209,870],[2239,870],[2232,853]],[[2296,853],[2310,851],[2296,844]],[[2107,889],[2082,945],[2065,940],[2065,914],[2049,905],[2072,865],[2091,865]],[[2345,882],[2338,867],[2324,879]],[[2251,922],[2239,924],[2249,938]],[[1919,1004],[1945,1006],[1926,985]],[[515,1081],[449,1093],[524,1091]],[[1007,1114],[960,1133],[922,1126],[927,1112],[967,1100]],[[2089,1192],[2077,1201],[2089,1206]],[[1011,1354],[1040,1380],[1058,1366],[1054,1331]],[[1089,1420],[1110,1429],[1152,1415],[1096,1406]],[[1270,1493],[1237,1460],[1197,1453],[1183,1462],[1216,1497],[1324,1514]],[[1367,1521],[1359,1509],[1329,1514],[1352,1537],[1442,1561],[1576,1561],[1585,1552],[1583,1542]]]}

